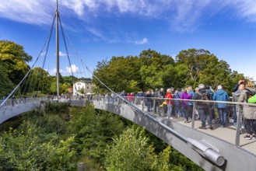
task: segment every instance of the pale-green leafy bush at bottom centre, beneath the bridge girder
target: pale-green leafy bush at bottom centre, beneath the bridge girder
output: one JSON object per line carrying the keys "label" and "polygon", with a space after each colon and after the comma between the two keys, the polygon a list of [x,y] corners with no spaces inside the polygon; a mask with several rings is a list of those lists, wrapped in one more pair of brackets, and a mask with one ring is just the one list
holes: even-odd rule
{"label": "pale-green leafy bush at bottom centre, beneath the bridge girder", "polygon": [[170,170],[170,147],[160,155],[154,153],[149,145],[145,130],[131,127],[119,138],[114,138],[114,144],[108,146],[105,160],[107,170]]}

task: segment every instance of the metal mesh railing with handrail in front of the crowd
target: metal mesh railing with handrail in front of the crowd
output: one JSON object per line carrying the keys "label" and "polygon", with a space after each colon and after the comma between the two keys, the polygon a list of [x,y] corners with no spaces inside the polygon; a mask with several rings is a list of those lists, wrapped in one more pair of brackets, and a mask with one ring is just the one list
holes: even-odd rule
{"label": "metal mesh railing with handrail in front of the crowd", "polygon": [[[121,99],[123,98],[123,99]],[[166,117],[210,134],[256,155],[256,104],[192,99],[160,99],[131,96],[93,96],[93,100],[136,106],[145,113]],[[167,116],[171,105],[170,118]],[[204,124],[205,123],[205,127]],[[247,137],[249,136],[250,137]]]}

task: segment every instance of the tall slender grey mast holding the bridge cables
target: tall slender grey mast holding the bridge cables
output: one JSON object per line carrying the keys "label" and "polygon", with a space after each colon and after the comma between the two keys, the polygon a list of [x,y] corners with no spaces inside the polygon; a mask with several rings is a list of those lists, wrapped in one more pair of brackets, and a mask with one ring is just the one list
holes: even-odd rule
{"label": "tall slender grey mast holding the bridge cables", "polygon": [[59,44],[58,44],[58,0],[56,0],[56,58],[57,58],[57,67],[56,67],[56,83],[57,83],[57,96],[60,95],[60,88],[59,88],[59,82],[60,82],[60,75],[59,75]]}

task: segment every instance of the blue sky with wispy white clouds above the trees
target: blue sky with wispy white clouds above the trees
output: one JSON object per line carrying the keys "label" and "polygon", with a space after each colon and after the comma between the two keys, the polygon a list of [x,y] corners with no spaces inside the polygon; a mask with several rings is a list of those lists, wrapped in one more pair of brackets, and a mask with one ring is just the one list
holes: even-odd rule
{"label": "blue sky with wispy white clouds above the trees", "polygon": [[[91,70],[97,61],[139,55],[149,48],[170,56],[203,48],[227,61],[232,70],[256,78],[255,0],[58,0],[58,4],[65,33]],[[55,5],[54,0],[0,0],[0,40],[21,44],[37,58],[49,35]],[[45,68],[53,74],[54,38],[50,46]],[[60,51],[61,73],[70,75],[62,38]],[[84,68],[75,51],[68,43],[76,76],[89,76],[79,75]]]}

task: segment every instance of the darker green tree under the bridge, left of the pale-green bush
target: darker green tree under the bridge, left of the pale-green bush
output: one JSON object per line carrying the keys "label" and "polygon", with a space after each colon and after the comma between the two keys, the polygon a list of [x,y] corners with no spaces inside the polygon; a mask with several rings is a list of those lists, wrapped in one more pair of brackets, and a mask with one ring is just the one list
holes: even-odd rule
{"label": "darker green tree under the bridge, left of the pale-green bush", "polygon": [[72,108],[69,132],[75,134],[75,147],[80,155],[87,155],[94,162],[103,163],[104,149],[112,138],[124,130],[120,118],[105,111],[94,111],[89,103],[85,108]]}

